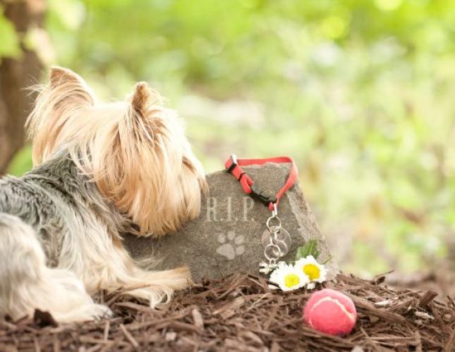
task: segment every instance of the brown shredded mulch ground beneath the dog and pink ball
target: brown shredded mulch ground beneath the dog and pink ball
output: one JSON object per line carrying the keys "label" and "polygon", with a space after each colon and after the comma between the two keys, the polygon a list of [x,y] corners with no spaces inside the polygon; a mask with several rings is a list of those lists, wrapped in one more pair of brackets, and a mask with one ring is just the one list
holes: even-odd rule
{"label": "brown shredded mulch ground beneath the dog and pink ball", "polygon": [[53,326],[45,313],[0,320],[0,351],[455,351],[451,298],[442,303],[435,291],[383,282],[339,275],[325,284],[356,303],[358,322],[347,337],[305,327],[304,290],[272,293],[262,277],[236,274],[197,285],[160,310],[105,296],[116,314],[110,320]]}

